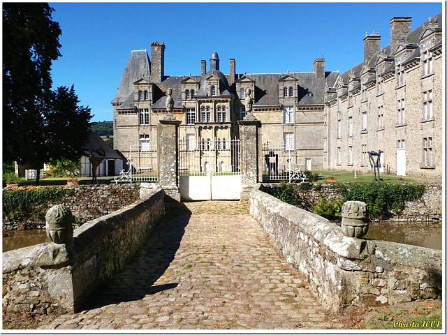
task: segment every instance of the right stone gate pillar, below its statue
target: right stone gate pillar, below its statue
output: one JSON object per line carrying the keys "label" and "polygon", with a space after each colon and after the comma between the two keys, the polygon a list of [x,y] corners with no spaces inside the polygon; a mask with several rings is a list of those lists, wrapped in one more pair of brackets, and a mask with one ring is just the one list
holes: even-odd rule
{"label": "right stone gate pillar, below its statue", "polygon": [[261,121],[249,113],[243,120],[237,121],[240,131],[240,173],[241,200],[248,200],[253,187],[262,181],[262,169],[259,165],[261,156]]}

